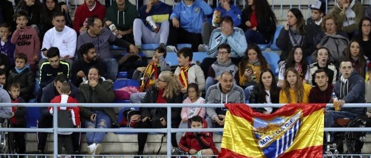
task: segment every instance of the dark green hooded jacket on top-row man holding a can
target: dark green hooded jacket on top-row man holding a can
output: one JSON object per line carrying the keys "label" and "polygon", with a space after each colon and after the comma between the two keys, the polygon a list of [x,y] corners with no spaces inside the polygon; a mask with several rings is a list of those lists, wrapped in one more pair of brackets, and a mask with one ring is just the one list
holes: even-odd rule
{"label": "dark green hooded jacket on top-row man holding a can", "polygon": [[112,21],[118,30],[126,31],[133,28],[134,19],[138,17],[137,8],[128,0],[125,3],[124,11],[119,11],[116,1],[107,9],[104,21]]}

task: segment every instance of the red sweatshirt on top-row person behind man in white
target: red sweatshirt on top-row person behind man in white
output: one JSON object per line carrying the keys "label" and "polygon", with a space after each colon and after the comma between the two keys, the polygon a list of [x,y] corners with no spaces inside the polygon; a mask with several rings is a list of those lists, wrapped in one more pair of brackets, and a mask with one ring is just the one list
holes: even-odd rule
{"label": "red sweatshirt on top-row person behind man in white", "polygon": [[92,11],[89,10],[86,3],[76,8],[75,19],[73,20],[73,29],[80,34],[80,28],[83,26],[86,18],[91,16],[98,16],[102,21],[106,15],[106,7],[99,3],[98,0],[95,1],[95,7]]}

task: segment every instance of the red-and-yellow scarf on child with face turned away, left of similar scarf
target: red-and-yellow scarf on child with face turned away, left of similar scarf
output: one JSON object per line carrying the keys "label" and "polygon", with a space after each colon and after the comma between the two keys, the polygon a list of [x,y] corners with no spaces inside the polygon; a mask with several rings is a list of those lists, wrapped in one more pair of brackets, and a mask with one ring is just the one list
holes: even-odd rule
{"label": "red-and-yellow scarf on child with face turned away, left of similar scarf", "polygon": [[154,61],[151,61],[150,64],[148,64],[147,68],[145,69],[142,84],[139,87],[139,91],[143,92],[146,87],[149,87],[153,83],[155,83],[157,78],[158,78],[157,64]]}

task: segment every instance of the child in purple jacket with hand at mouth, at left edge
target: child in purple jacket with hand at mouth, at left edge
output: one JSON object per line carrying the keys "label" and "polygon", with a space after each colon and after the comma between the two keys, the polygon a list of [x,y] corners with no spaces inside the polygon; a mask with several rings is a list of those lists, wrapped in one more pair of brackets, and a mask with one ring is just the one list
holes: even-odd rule
{"label": "child in purple jacket with hand at mouth, at left edge", "polygon": [[[3,69],[5,69],[5,70],[9,70],[9,68],[12,68],[13,66],[15,66],[14,51],[16,50],[16,45],[12,44],[12,42],[10,42],[10,38],[12,38],[12,36],[10,36],[10,35],[12,35],[11,29],[12,28],[7,23],[2,23],[0,25],[0,36],[1,36],[0,52],[1,52],[1,54],[6,55],[8,60],[4,60],[4,58],[2,57],[3,55],[0,55],[1,56],[0,58],[1,58],[1,62],[9,61],[8,64],[4,64]],[[1,65],[3,65],[3,64],[1,64]],[[8,67],[8,69],[5,68],[5,67]]]}

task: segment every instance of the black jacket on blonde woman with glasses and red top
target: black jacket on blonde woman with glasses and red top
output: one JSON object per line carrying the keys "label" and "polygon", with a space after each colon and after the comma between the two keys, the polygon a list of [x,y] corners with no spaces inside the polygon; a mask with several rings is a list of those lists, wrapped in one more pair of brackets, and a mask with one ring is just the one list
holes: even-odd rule
{"label": "black jacket on blonde woman with glasses and red top", "polygon": [[[156,103],[157,95],[158,95],[157,87],[151,86],[150,89],[148,89],[147,93],[145,94],[142,103]],[[182,102],[183,96],[181,94],[166,99],[166,103],[182,103]],[[141,107],[139,110],[141,111],[142,117],[148,116],[152,120],[160,119],[161,117],[167,119],[167,108],[165,107]],[[171,108],[171,120],[180,121],[181,110],[182,109],[180,107]]]}

